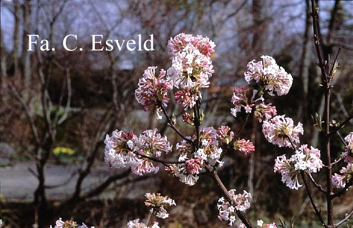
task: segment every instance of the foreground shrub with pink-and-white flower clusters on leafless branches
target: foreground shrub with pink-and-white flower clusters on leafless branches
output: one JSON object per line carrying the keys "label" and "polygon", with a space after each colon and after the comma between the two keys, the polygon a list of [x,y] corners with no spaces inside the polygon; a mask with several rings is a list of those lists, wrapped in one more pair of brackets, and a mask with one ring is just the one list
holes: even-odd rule
{"label": "foreground shrub with pink-and-white flower clusters on leafless branches", "polygon": [[[304,133],[303,125],[295,124],[285,115],[277,116],[276,107],[265,102],[266,94],[270,96],[287,94],[292,85],[292,76],[268,55],[261,56],[261,61],[249,62],[244,73],[249,86],[235,87],[230,99],[233,104],[230,109],[231,115],[234,117],[239,114],[245,115],[246,119],[236,134],[228,126],[219,126],[215,130],[211,126],[202,126],[204,113],[200,108],[201,89],[209,87],[210,77],[214,73],[211,56],[214,53],[215,44],[207,37],[181,33],[170,38],[167,46],[172,61],[171,67],[167,73],[161,70],[159,76],[155,76],[157,67],[148,67],[139,80],[135,95],[145,111],[157,112],[157,119],[162,119],[162,112],[168,126],[182,138],[182,141],[172,150],[167,137],[157,133],[157,129],[146,130],[140,136],[132,131],[127,133],[115,130],[111,136],[107,135],[105,140],[107,164],[114,168],[131,167],[134,174],[142,176],[147,173],[157,173],[158,163],[160,163],[164,166],[165,172],[190,186],[196,184],[200,174],[206,174],[216,182],[222,192],[217,205],[218,218],[228,221],[230,226],[254,227],[245,215],[246,210],[250,208],[251,194],[247,191],[236,194],[234,189],[228,191],[217,175],[217,168],[223,165],[222,159],[226,154],[240,152],[247,155],[255,151],[252,142],[240,138],[245,124],[252,116],[262,123],[262,132],[268,142],[293,149],[293,154],[289,158],[285,154],[276,158],[274,172],[282,176],[282,182],[290,189],[298,190],[303,186],[300,184],[300,179],[303,180],[317,216],[324,224],[320,212],[312,201],[307,183],[307,177],[309,177],[321,192],[328,194],[311,176],[312,173],[317,173],[326,167],[321,160],[321,152],[306,144],[297,149],[300,135]],[[169,90],[175,91],[175,102],[184,109],[182,122],[195,128],[195,132],[190,136],[183,135],[177,129],[177,119],[174,115],[169,117],[167,113]],[[321,124],[320,122],[320,126]],[[326,134],[329,134],[328,128],[326,131]],[[333,185],[344,190],[352,184],[352,141],[353,133],[350,133],[345,137],[345,150],[340,158],[347,165],[341,168],[340,174],[332,176]],[[164,160],[161,158],[162,154],[172,154],[171,157],[178,157],[178,159]],[[148,224],[135,219],[128,223],[129,227],[159,227],[157,222],[152,221],[153,215],[167,218],[168,213],[165,208],[175,205],[173,200],[160,194],[147,193],[146,197],[146,206],[152,207]],[[336,197],[336,195],[329,197]],[[236,222],[236,216],[241,222]],[[275,223],[264,223],[262,220],[258,220],[257,225],[276,227]]]}

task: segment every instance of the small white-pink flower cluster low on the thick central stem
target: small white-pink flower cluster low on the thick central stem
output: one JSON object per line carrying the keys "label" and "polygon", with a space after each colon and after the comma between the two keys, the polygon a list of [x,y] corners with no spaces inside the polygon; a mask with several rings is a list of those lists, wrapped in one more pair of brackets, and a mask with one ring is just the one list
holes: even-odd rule
{"label": "small white-pink flower cluster low on the thick central stem", "polygon": [[232,202],[225,201],[224,197],[219,198],[217,208],[219,211],[219,220],[229,221],[228,225],[232,226],[236,221],[236,211],[245,211],[250,207],[251,194],[244,191],[243,194],[236,194],[235,189],[231,189],[228,193],[232,197]]}

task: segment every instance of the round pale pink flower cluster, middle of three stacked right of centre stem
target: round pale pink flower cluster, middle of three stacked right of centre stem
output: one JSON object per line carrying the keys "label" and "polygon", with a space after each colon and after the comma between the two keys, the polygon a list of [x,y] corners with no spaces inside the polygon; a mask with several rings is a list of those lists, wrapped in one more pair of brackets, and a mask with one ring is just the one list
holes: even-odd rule
{"label": "round pale pink flower cluster, middle of three stacked right of centre stem", "polygon": [[288,138],[290,138],[293,143],[299,143],[299,134],[303,135],[304,130],[300,122],[295,126],[291,118],[282,115],[264,121],[262,124],[262,132],[268,142],[278,145],[279,147],[292,147]]}

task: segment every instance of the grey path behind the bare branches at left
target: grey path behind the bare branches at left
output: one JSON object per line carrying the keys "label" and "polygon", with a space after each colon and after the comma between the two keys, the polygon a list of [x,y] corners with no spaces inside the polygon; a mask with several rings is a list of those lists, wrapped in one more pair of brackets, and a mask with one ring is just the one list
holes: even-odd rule
{"label": "grey path behind the bare branches at left", "polygon": [[[0,168],[0,190],[1,194],[7,201],[33,201],[33,193],[38,184],[37,179],[29,171],[35,169],[34,162],[17,162],[13,166]],[[65,166],[48,164],[45,168],[45,185],[60,185],[67,182],[72,174],[77,170],[77,166]],[[91,174],[84,180],[82,189],[91,189],[105,180],[109,175],[116,173],[106,166],[102,168],[93,168]],[[118,171],[119,172],[119,171]],[[75,189],[77,175],[67,184],[57,188],[47,189],[48,200],[63,200],[71,195]],[[135,183],[134,187],[126,188],[126,198],[133,198],[137,195],[144,194],[149,190],[148,186],[152,180]],[[119,182],[118,182],[119,183]],[[136,186],[138,185],[138,186]],[[153,191],[153,190],[149,190]],[[113,198],[114,191],[106,191],[101,194],[100,198]]]}

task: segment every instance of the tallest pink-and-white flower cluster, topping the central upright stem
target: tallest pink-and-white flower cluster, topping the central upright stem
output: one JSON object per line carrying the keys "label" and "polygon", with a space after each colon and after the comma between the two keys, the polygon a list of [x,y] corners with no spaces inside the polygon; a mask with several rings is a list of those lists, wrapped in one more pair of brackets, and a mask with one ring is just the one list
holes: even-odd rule
{"label": "tallest pink-and-white flower cluster, topping the central upright stem", "polygon": [[175,87],[175,100],[185,109],[192,108],[201,99],[199,88],[209,87],[209,78],[214,73],[210,55],[215,44],[202,36],[181,33],[168,41],[168,52],[172,65],[167,74]]}

